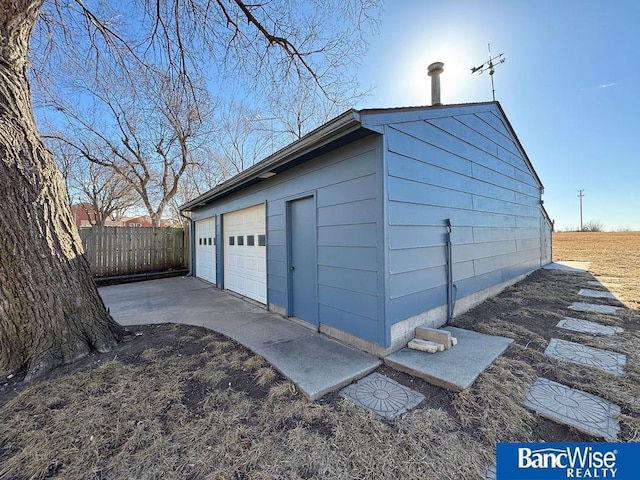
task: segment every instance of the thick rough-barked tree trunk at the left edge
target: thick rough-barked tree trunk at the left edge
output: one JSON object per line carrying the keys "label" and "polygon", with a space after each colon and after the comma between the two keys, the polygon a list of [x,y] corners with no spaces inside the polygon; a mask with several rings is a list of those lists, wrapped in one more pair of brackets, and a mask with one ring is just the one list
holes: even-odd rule
{"label": "thick rough-barked tree trunk at the left edge", "polygon": [[121,327],[98,295],[62,176],[33,116],[28,47],[41,0],[0,7],[0,373],[35,378]]}

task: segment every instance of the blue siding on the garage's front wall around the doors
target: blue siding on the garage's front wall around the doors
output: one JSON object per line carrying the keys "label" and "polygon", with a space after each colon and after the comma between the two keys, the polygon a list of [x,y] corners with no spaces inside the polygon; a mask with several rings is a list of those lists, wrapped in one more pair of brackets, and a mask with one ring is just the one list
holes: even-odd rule
{"label": "blue siding on the garage's front wall around the doors", "polygon": [[[194,210],[193,216],[224,214],[266,201],[267,298],[286,309],[286,202],[315,195],[319,321],[382,344],[379,322],[384,318],[379,310],[384,300],[377,284],[383,275],[378,261],[380,143],[379,135],[358,140]],[[222,263],[220,257],[218,264]]]}

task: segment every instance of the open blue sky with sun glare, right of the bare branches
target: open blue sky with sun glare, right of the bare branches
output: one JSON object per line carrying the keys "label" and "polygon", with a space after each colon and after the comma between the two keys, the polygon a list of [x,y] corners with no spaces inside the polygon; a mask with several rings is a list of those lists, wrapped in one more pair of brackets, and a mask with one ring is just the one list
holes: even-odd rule
{"label": "open blue sky with sun glare, right of the bare branches", "polygon": [[556,229],[640,230],[640,2],[390,0],[359,68],[361,105],[428,105],[426,67],[445,63],[442,102],[502,104],[545,185]]}

